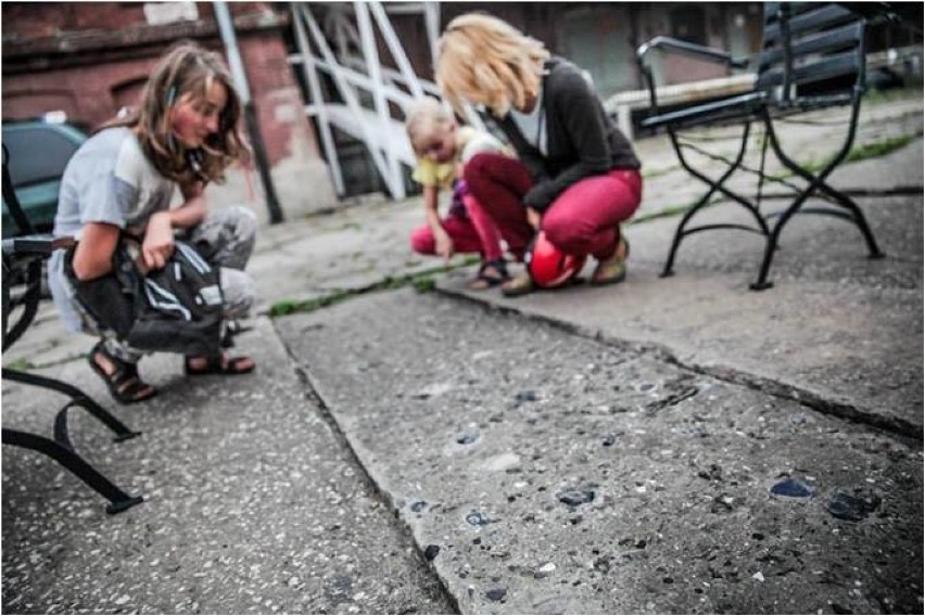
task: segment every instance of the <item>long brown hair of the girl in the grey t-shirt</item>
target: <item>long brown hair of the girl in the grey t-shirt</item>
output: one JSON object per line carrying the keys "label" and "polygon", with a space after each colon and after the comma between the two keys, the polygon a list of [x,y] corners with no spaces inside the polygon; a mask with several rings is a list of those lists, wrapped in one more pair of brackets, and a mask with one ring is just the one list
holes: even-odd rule
{"label": "long brown hair of the girl in the grey t-shirt", "polygon": [[[169,110],[185,97],[204,102],[214,84],[225,86],[227,101],[218,115],[218,130],[203,145],[189,151],[173,136]],[[154,67],[142,94],[140,111],[106,126],[128,126],[138,134],[141,149],[157,171],[180,184],[220,182],[225,169],[246,157],[248,146],[238,124],[241,101],[231,76],[217,53],[192,42],[170,49]]]}

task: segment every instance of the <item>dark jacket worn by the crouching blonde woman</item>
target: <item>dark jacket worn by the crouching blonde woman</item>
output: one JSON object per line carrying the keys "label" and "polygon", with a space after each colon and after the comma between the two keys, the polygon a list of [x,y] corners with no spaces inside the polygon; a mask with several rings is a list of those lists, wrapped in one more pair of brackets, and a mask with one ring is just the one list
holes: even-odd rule
{"label": "dark jacket worn by the crouching blonde woman", "polygon": [[523,203],[540,211],[583,178],[639,168],[632,144],[604,113],[579,67],[550,57],[545,68],[540,121],[546,123],[546,156],[524,140],[510,114],[494,118],[533,177]]}

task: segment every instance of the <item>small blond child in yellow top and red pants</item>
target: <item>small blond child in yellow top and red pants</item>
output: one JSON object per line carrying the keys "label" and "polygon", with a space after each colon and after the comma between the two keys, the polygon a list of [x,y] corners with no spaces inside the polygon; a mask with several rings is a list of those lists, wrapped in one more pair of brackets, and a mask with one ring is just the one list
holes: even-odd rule
{"label": "small blond child in yellow top and red pants", "polygon": [[[502,142],[468,126],[458,126],[436,99],[425,98],[408,110],[405,128],[418,165],[411,178],[423,187],[427,223],[411,232],[411,248],[448,260],[454,253],[480,253],[482,265],[469,288],[483,290],[509,280],[494,221],[469,194],[463,180],[466,163],[476,154],[508,154]],[[449,211],[438,214],[441,189],[452,189]]]}

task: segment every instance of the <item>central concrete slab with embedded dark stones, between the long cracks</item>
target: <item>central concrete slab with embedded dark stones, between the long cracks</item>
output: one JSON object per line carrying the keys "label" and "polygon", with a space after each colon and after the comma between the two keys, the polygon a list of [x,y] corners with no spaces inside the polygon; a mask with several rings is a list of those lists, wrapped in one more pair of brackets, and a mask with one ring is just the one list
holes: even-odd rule
{"label": "central concrete slab with embedded dark stones, between the long cracks", "polygon": [[921,608],[921,442],[413,291],[279,330],[464,613]]}

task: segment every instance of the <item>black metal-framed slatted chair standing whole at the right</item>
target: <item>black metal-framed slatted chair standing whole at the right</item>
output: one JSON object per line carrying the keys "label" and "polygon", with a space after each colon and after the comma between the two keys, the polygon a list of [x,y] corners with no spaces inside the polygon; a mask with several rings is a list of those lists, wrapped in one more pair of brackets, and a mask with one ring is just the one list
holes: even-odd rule
{"label": "black metal-framed slatted chair standing whole at the right", "polygon": [[[648,84],[651,105],[649,116],[643,120],[642,125],[644,127],[666,128],[682,167],[709,187],[704,196],[692,205],[682,217],[669,249],[662,277],[673,273],[672,268],[677,248],[685,236],[713,229],[743,229],[757,232],[765,239],[764,255],[758,278],[749,286],[753,291],[769,288],[773,286],[773,282],[768,279],[768,274],[777,249],[781,232],[793,216],[798,213],[826,214],[850,220],[864,236],[870,257],[879,258],[884,256],[877,246],[864,214],[857,203],[826,182],[829,174],[848,156],[857,133],[861,97],[865,86],[864,26],[865,22],[862,16],[837,4],[806,3],[806,5],[801,5],[799,3],[769,2],[765,4],[764,47],[758,57],[755,89],[745,94],[709,103],[694,103],[690,106],[662,114],[659,113],[655,79],[647,63],[647,56],[652,50],[683,53],[704,61],[738,68],[748,66],[749,61],[734,59],[723,51],[668,37],[657,37],[638,49],[637,60],[642,74]],[[795,91],[799,86],[806,84],[818,84],[825,79],[846,75],[854,77],[852,86],[847,91],[829,92],[822,95],[803,95],[800,94],[799,90]],[[794,113],[835,105],[851,105],[851,116],[845,143],[822,170],[812,172],[801,167],[784,152],[775,129],[775,120]],[[743,166],[749,145],[748,137],[751,124],[756,121],[761,123],[764,127],[761,167],[757,171]],[[682,142],[680,131],[693,127],[731,123],[743,126],[738,153],[732,161],[720,158],[727,164],[727,168],[719,178],[710,178],[694,168],[685,158],[685,149],[696,150],[696,147]],[[769,179],[764,174],[769,142],[777,159],[787,169],[808,182],[808,185],[799,188],[789,182],[783,182],[794,190],[793,202],[781,211],[762,215],[761,188],[764,181]],[[730,177],[738,170],[748,170],[759,176],[758,192],[753,198],[738,194],[724,185]],[[688,227],[690,219],[711,202],[717,192],[745,207],[756,219],[757,228],[740,223]],[[814,194],[837,207],[803,207],[807,200]],[[776,221],[771,226],[769,221],[773,218],[776,218]]]}

